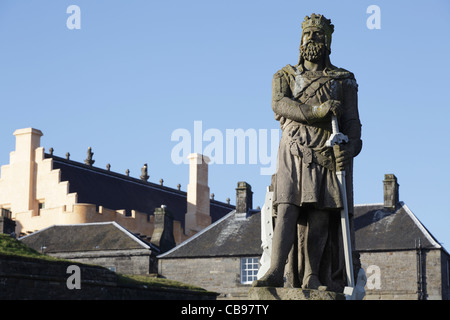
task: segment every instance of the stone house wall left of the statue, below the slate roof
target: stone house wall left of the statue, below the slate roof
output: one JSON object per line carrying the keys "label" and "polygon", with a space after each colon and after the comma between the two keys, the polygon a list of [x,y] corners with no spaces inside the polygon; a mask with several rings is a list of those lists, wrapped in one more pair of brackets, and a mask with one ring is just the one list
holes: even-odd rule
{"label": "stone house wall left of the statue, below the slate roof", "polygon": [[220,293],[219,299],[245,299],[250,285],[241,284],[240,257],[160,259],[158,272],[177,280]]}

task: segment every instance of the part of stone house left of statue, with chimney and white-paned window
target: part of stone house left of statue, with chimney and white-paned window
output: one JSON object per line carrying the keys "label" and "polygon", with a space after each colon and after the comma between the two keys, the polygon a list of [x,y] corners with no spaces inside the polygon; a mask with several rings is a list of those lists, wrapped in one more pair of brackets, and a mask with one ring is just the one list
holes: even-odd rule
{"label": "part of stone house left of statue, with chimney and white-paned window", "polygon": [[218,292],[220,298],[245,298],[262,253],[260,214],[252,210],[251,195],[250,185],[239,182],[236,210],[159,255],[159,274]]}

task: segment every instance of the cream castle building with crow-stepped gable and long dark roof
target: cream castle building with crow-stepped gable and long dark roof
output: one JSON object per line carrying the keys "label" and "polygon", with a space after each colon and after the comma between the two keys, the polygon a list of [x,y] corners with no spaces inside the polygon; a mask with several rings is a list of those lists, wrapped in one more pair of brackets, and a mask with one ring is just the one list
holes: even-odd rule
{"label": "cream castle building with crow-stepped gable and long dark roof", "polygon": [[173,218],[173,236],[180,243],[234,209],[210,199],[208,159],[190,155],[188,191],[148,181],[145,164],[140,178],[95,167],[88,149],[84,163],[70,155],[59,157],[40,146],[42,132],[33,128],[14,132],[15,150],[1,167],[0,208],[26,235],[52,225],[115,221],[132,233],[151,237],[154,212],[166,206]]}

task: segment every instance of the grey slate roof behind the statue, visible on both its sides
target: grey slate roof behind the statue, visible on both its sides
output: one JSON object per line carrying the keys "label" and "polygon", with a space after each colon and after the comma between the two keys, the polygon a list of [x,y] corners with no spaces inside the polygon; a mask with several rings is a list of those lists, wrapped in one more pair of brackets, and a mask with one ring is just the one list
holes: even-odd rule
{"label": "grey slate roof behind the statue, visible on both its sides", "polygon": [[[412,250],[417,239],[421,239],[422,248],[442,248],[403,202],[394,212],[383,204],[355,205],[354,214],[357,251]],[[260,223],[260,213],[239,220],[232,212],[158,258],[259,256]]]}

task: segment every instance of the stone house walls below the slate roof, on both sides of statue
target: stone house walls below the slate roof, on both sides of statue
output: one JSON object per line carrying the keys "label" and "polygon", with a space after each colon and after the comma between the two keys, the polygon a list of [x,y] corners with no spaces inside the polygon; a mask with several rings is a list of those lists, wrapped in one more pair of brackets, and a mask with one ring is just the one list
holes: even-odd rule
{"label": "stone house walls below the slate roof, on both sides of statue", "polygon": [[[427,300],[449,299],[448,256],[423,250],[423,283]],[[417,300],[415,250],[361,252],[367,274],[366,300]],[[160,259],[159,273],[168,278],[220,293],[219,298],[246,299],[250,285],[240,282],[240,258]]]}

